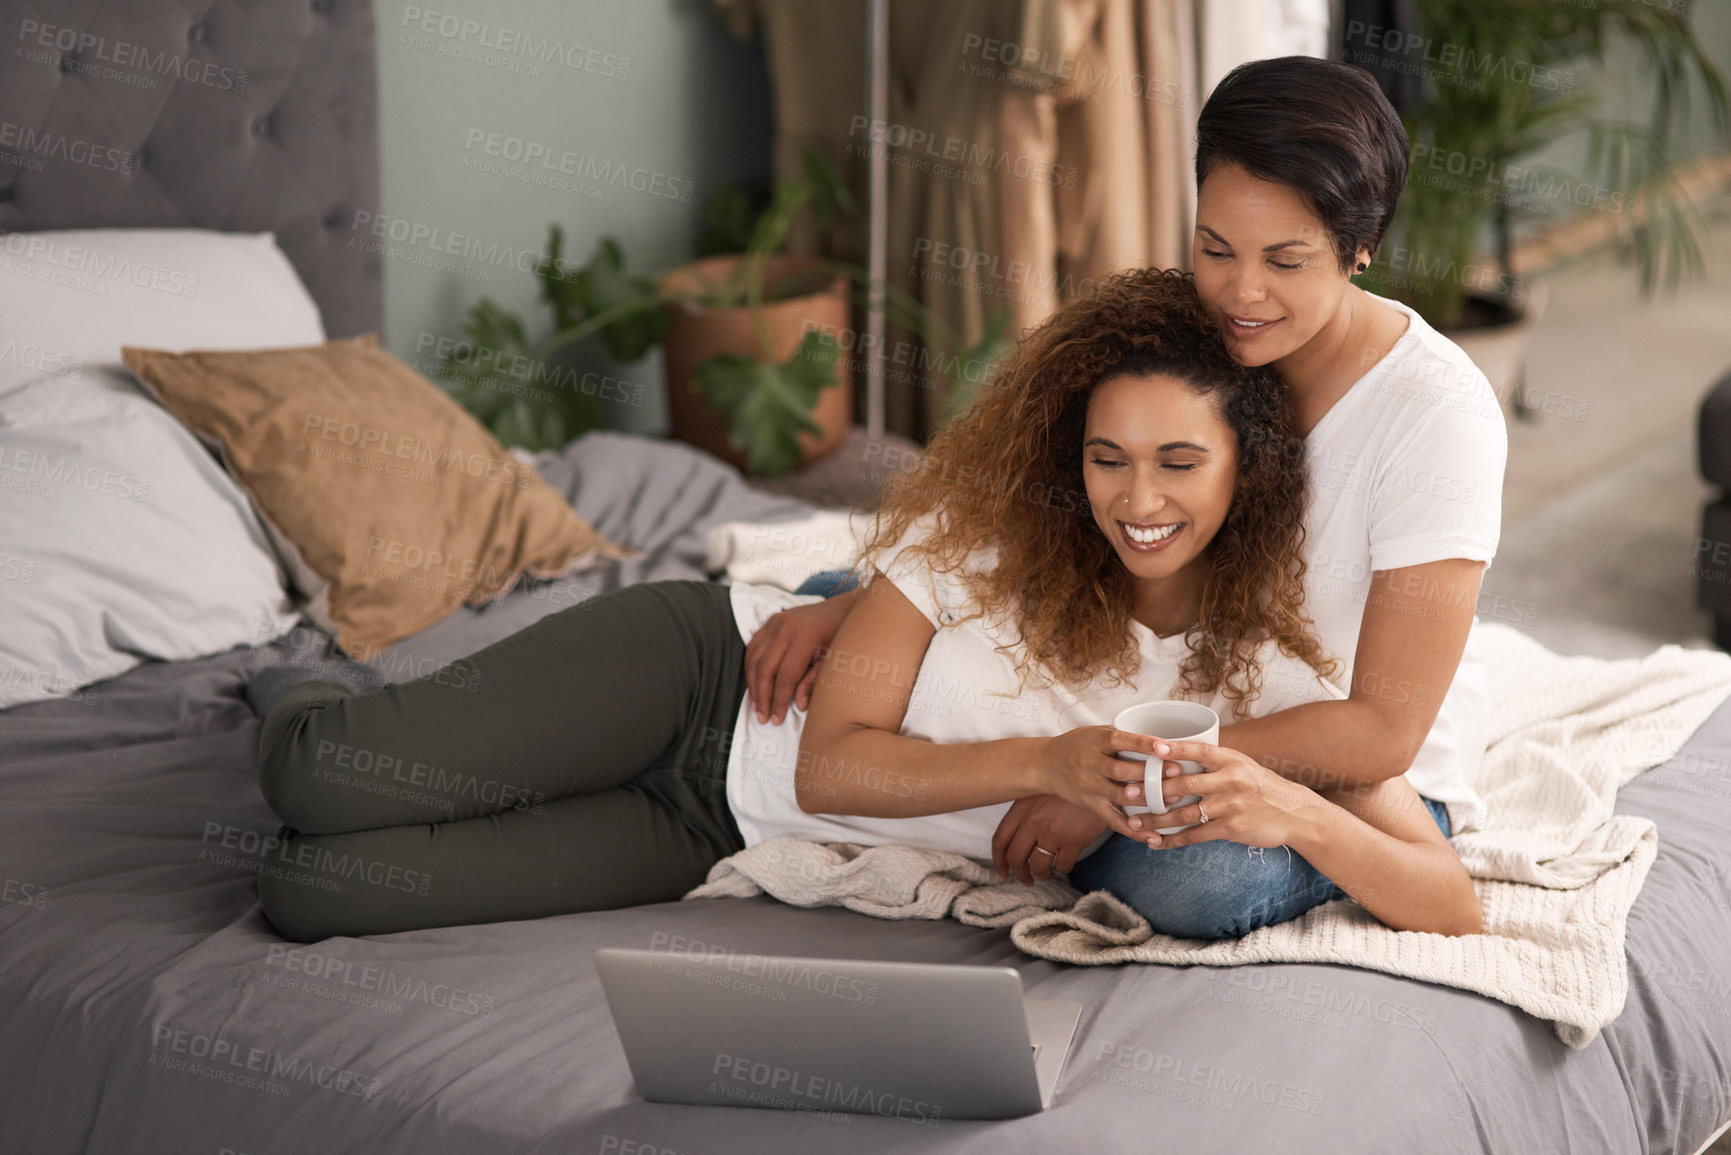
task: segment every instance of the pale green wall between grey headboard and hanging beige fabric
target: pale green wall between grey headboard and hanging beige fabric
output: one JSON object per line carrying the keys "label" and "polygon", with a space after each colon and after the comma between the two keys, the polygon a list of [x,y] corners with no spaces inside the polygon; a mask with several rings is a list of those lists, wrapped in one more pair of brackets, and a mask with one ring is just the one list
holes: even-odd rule
{"label": "pale green wall between grey headboard and hanging beige fabric", "polygon": [[[770,171],[772,107],[758,40],[736,40],[708,0],[376,0],[384,343],[428,372],[481,296],[550,329],[524,272],[547,223],[583,260],[601,236],[630,263],[689,260],[717,185]],[[665,428],[658,355],[571,365],[602,388],[613,424]]]}

